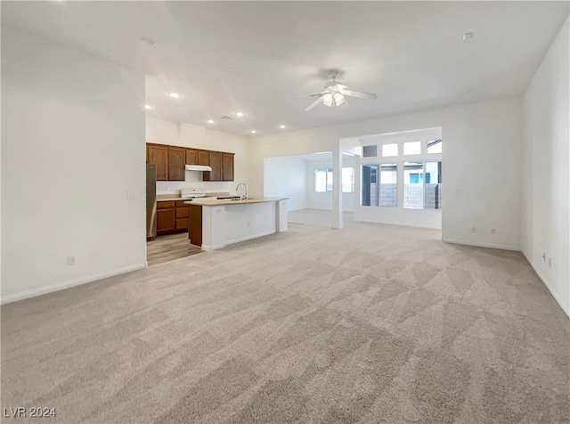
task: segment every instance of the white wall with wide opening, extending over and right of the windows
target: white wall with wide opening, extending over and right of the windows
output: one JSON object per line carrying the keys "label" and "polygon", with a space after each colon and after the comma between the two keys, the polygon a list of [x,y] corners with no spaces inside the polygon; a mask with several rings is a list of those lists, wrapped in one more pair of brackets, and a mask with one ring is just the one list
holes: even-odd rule
{"label": "white wall with wide opening, extending over and right of the windows", "polygon": [[[339,139],[441,126],[444,241],[520,249],[520,97],[388,118],[265,135],[252,141],[253,192],[263,192],[263,159],[334,151]],[[483,171],[483,172],[482,172]],[[476,175],[476,177],[474,177]],[[471,232],[476,226],[477,232]],[[496,233],[492,234],[491,229]]]}

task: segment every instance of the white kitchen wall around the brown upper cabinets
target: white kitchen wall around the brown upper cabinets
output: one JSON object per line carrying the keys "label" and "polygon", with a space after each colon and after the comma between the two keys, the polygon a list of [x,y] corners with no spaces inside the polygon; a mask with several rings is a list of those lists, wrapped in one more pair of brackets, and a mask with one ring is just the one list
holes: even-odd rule
{"label": "white kitchen wall around the brown upper cabinets", "polygon": [[[234,181],[202,181],[199,172],[186,172],[186,181],[158,181],[159,194],[177,193],[182,188],[195,188],[205,192],[235,192],[238,183],[249,185],[249,149],[248,137],[216,131],[205,126],[169,121],[167,119],[146,118],[146,143],[169,144],[173,146],[194,147],[208,151],[227,151],[235,153]],[[243,190],[243,189],[240,189]]]}

